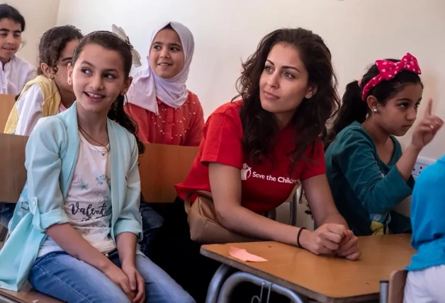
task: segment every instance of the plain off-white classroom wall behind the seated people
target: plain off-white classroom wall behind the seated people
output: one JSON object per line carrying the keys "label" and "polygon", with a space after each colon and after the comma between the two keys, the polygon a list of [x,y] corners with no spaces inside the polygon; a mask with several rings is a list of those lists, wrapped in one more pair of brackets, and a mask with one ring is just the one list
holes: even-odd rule
{"label": "plain off-white classroom wall behind the seated people", "polygon": [[[57,23],[73,24],[84,33],[116,23],[142,57],[159,21],[184,23],[196,40],[188,87],[200,97],[206,116],[235,96],[241,60],[276,28],[301,26],[325,38],[340,93],[375,59],[398,58],[409,51],[422,67],[424,98],[434,98],[435,113],[445,119],[444,16],[443,0],[60,0]],[[402,144],[410,142],[411,133]],[[444,154],[444,135],[445,130],[422,156],[436,159]]]}

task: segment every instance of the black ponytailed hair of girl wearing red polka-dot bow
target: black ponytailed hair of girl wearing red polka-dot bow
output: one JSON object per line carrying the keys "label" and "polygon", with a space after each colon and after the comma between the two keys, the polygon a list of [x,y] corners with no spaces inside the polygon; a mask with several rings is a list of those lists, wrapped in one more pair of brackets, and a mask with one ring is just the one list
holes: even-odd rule
{"label": "black ponytailed hair of girl wearing red polka-dot bow", "polygon": [[[397,59],[386,59],[391,62],[400,62]],[[352,81],[346,86],[342,98],[342,106],[339,109],[339,113],[332,123],[332,128],[329,131],[327,140],[325,142],[325,149],[329,147],[329,144],[335,139],[337,134],[341,132],[345,127],[352,122],[357,121],[363,123],[368,115],[372,115],[371,108],[368,107],[368,103],[361,99],[361,93],[364,86],[373,79],[373,77],[379,74],[376,64],[373,64],[366,74],[364,74],[359,81]],[[378,103],[385,105],[388,99],[393,97],[396,93],[402,91],[407,84],[422,84],[420,77],[415,72],[402,71],[398,73],[394,78],[388,81],[382,81],[369,91],[369,96],[376,97]]]}

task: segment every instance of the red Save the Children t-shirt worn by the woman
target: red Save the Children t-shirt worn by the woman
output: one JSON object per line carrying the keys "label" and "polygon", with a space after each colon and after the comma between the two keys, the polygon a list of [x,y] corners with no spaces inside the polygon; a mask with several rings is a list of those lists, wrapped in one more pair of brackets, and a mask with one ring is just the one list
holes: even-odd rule
{"label": "red Save the Children t-shirt worn by the woman", "polygon": [[193,161],[191,171],[183,183],[176,185],[179,198],[185,199],[194,190],[210,190],[208,163],[216,162],[240,168],[242,182],[242,206],[262,213],[281,205],[291,195],[295,183],[326,172],[325,156],[321,142],[305,151],[312,161],[301,159],[290,173],[291,159],[288,152],[294,149],[294,130],[291,126],[278,132],[271,159],[252,164],[242,149],[242,101],[226,103],[215,110],[203,129],[203,140]]}

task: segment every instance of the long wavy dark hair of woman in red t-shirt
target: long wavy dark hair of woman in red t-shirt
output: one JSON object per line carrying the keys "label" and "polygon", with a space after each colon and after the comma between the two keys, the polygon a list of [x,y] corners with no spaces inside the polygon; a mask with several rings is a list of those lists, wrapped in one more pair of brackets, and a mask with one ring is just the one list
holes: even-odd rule
{"label": "long wavy dark hair of woman in red t-shirt", "polygon": [[305,159],[305,150],[310,145],[315,146],[325,139],[327,122],[337,113],[340,99],[331,52],[319,35],[303,28],[283,28],[266,35],[257,51],[242,64],[242,74],[237,81],[239,95],[235,97],[244,100],[240,109],[244,131],[242,144],[252,162],[261,162],[262,157],[270,154],[278,132],[274,114],[264,110],[259,100],[259,79],[267,56],[277,43],[286,43],[298,50],[308,71],[308,85],[317,88],[312,98],[303,99],[291,120],[295,130],[295,149],[288,154],[292,171],[300,159]]}

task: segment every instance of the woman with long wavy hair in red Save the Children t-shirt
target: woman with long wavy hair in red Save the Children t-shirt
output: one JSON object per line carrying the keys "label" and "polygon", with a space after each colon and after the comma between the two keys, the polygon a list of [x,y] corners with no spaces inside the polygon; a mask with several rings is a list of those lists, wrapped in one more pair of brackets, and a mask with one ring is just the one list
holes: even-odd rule
{"label": "woman with long wavy hair in red Save the Children t-shirt", "polygon": [[[275,30],[242,65],[240,101],[210,115],[198,155],[176,209],[152,244],[154,261],[203,301],[218,263],[191,241],[184,199],[195,190],[213,194],[220,224],[237,234],[298,244],[315,254],[360,256],[356,236],[339,215],[325,176],[322,139],[339,106],[329,49],[303,28]],[[318,228],[300,229],[261,215],[281,205],[303,183]],[[178,258],[178,257],[181,258]],[[178,262],[179,261],[179,262]]]}

